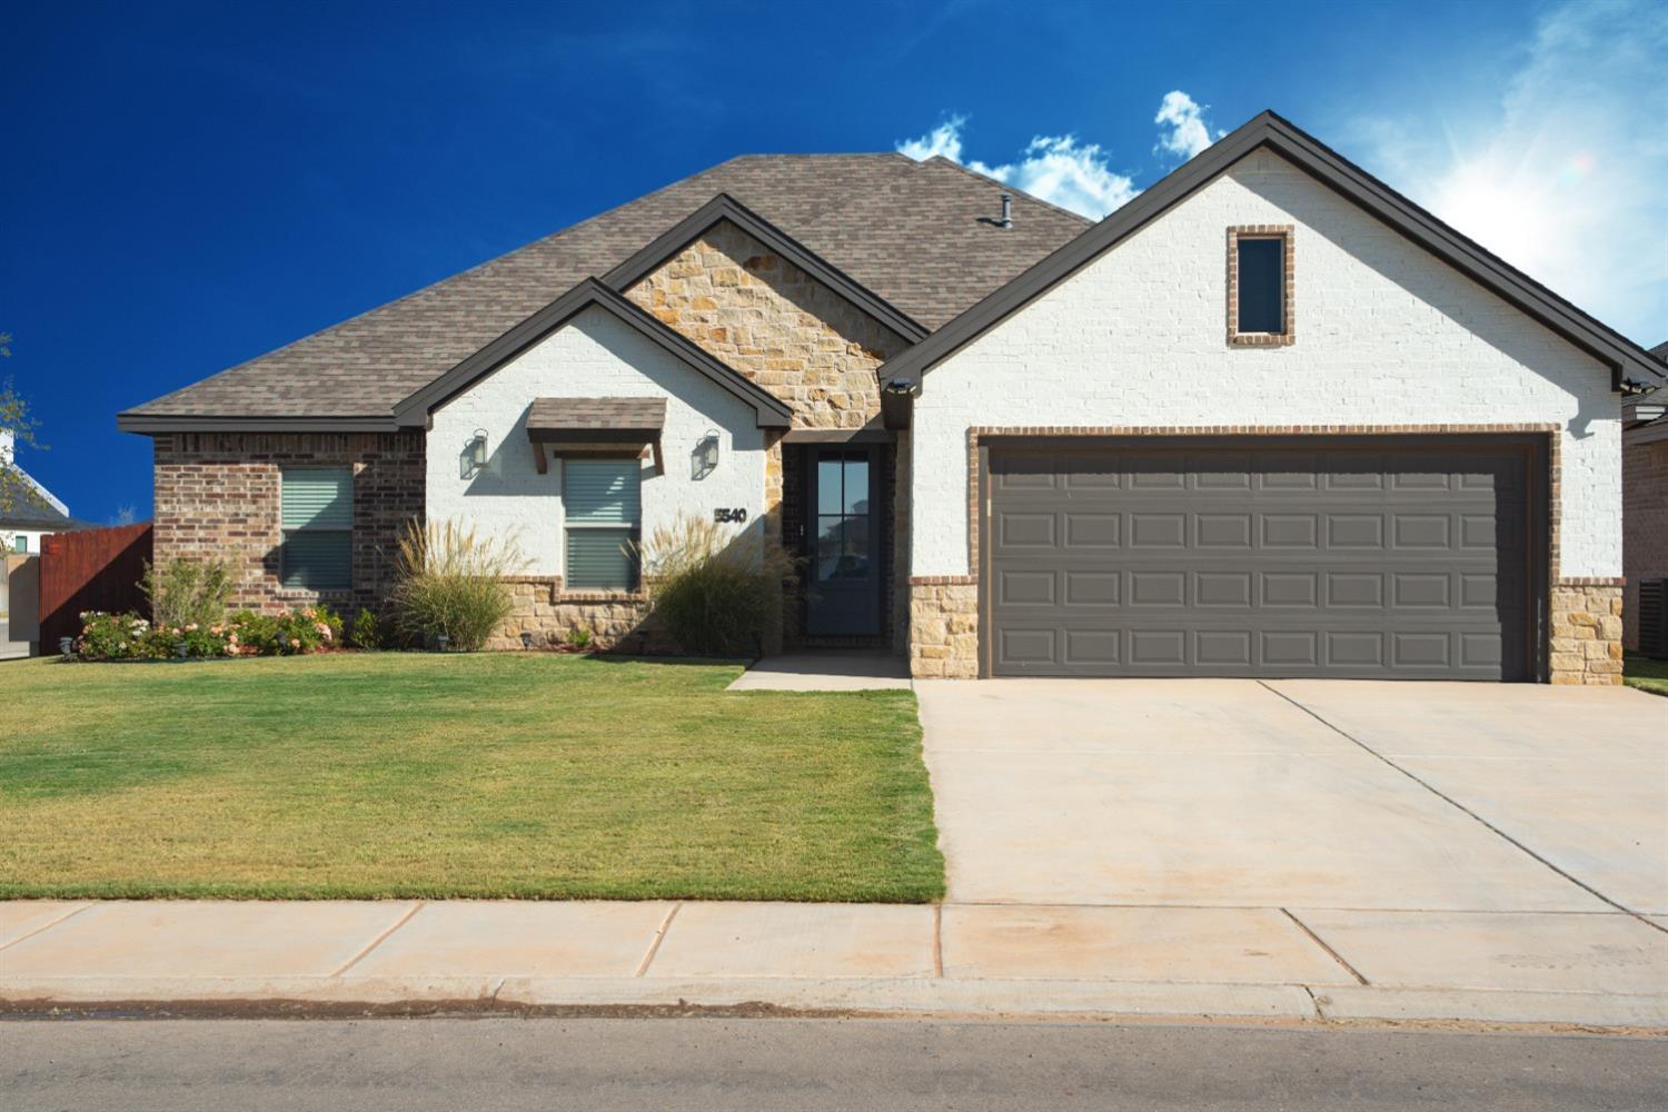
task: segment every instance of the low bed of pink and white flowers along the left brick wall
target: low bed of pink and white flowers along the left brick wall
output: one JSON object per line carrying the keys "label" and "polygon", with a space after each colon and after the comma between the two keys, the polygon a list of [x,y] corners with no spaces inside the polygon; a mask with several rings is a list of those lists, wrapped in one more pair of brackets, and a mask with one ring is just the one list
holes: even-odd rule
{"label": "low bed of pink and white flowers along the left brick wall", "polygon": [[82,660],[212,660],[224,657],[290,657],[335,649],[342,619],[329,607],[289,614],[239,610],[214,625],[152,625],[137,614],[82,614],[75,654]]}

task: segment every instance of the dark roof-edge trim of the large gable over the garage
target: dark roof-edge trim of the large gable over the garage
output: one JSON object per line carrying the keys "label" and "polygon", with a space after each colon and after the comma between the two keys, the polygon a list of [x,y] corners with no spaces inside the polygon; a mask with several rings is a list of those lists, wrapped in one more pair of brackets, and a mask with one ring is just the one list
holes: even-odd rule
{"label": "dark roof-edge trim of the large gable over the garage", "polygon": [[[1253,155],[1273,153],[1361,208],[1386,232],[1403,237],[1443,265],[1610,368],[1611,388],[1631,390],[1661,380],[1661,368],[1640,345],[1583,313],[1546,287],[1483,250],[1383,182],[1326,148],[1271,112],[1264,112],[1158,185],[996,290],[922,343],[881,368],[887,383],[914,387],[934,365],[1044,295],[1058,283],[1138,235],[1173,207],[1188,202]],[[1236,220],[1238,222],[1238,220]]]}

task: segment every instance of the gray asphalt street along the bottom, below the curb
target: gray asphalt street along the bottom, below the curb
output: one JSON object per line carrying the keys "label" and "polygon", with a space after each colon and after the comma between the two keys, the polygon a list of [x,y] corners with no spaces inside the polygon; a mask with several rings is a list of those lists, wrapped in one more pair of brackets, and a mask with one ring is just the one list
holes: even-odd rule
{"label": "gray asphalt street along the bottom, below the curb", "polygon": [[786,1019],[13,1020],[0,1107],[1663,1109],[1668,1039]]}

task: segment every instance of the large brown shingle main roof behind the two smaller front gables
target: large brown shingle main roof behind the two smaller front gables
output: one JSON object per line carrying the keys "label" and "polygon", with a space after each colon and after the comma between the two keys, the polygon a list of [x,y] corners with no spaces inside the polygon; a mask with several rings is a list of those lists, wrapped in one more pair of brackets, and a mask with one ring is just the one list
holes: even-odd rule
{"label": "large brown shingle main roof behind the two smaller front gables", "polygon": [[[927,328],[1089,222],[942,158],[749,155],[130,410],[142,417],[387,417],[587,275],[602,275],[719,192]],[[1009,190],[1012,192],[1012,190]]]}

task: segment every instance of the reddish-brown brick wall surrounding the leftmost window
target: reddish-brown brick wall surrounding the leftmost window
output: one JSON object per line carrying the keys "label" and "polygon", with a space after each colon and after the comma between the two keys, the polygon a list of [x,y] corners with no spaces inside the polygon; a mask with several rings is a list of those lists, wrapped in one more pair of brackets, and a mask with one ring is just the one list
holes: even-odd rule
{"label": "reddish-brown brick wall surrounding the leftmost window", "polygon": [[[290,463],[354,468],[352,590],[320,595],[279,585],[279,468]],[[192,432],[155,438],[155,560],[232,560],[242,570],[234,607],[380,605],[392,589],[400,525],[422,512],[420,432]]]}

